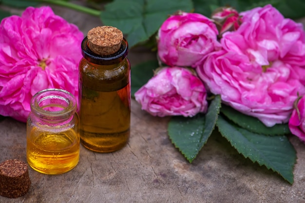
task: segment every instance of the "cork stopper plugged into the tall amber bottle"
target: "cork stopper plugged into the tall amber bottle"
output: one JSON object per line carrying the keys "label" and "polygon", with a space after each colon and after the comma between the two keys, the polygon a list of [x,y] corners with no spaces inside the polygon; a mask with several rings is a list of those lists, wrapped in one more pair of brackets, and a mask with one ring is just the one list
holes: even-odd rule
{"label": "cork stopper plugged into the tall amber bottle", "polygon": [[112,26],[99,26],[88,32],[88,46],[98,55],[112,55],[117,52],[123,40],[123,33]]}

